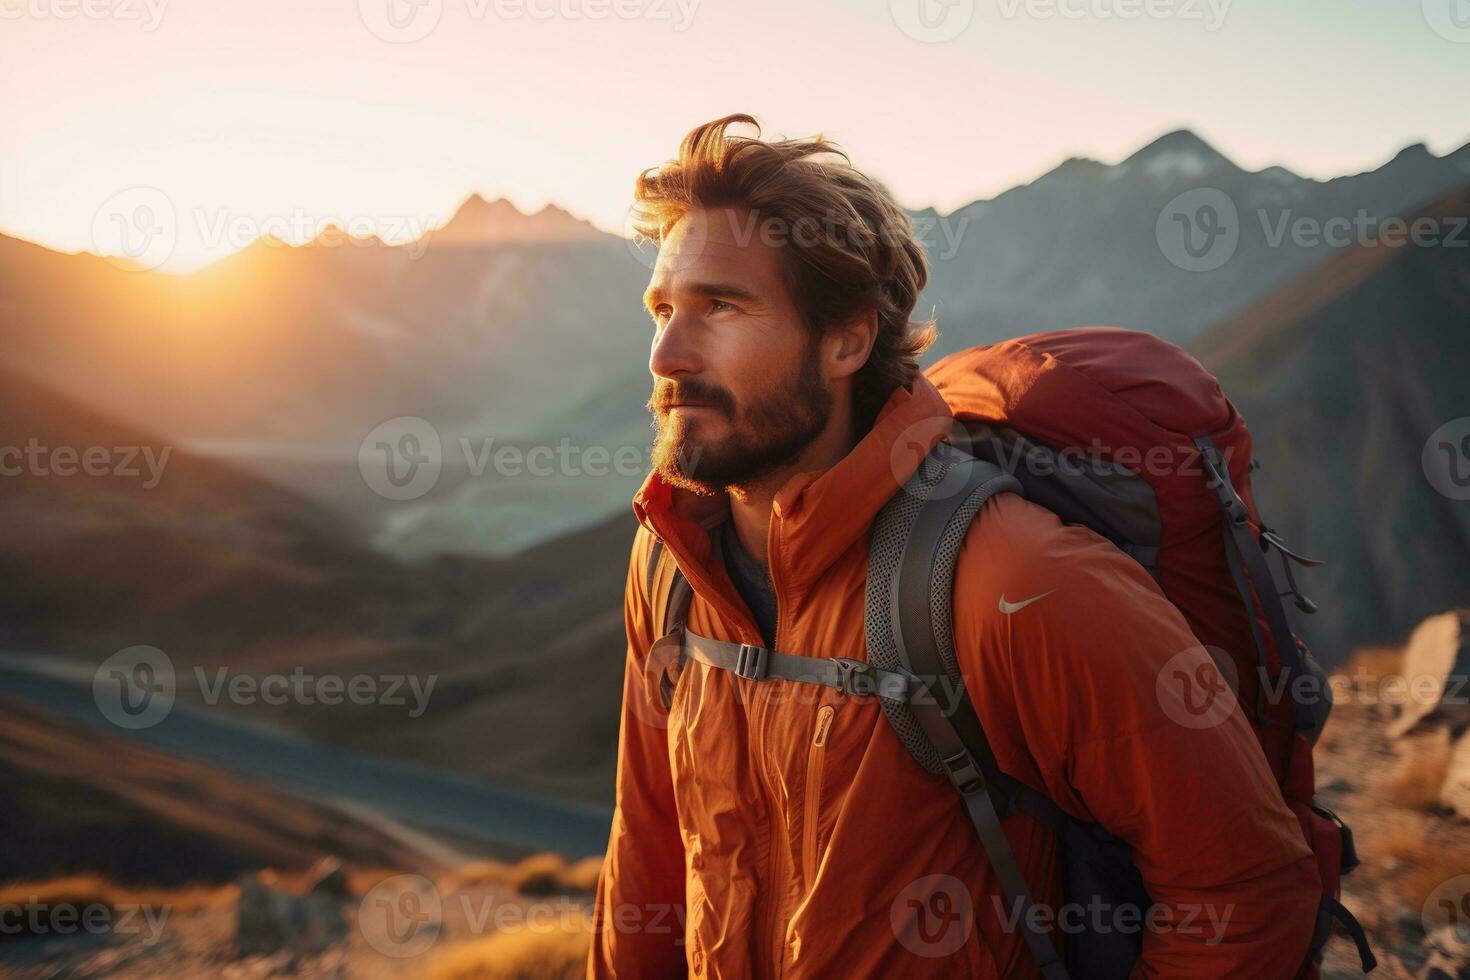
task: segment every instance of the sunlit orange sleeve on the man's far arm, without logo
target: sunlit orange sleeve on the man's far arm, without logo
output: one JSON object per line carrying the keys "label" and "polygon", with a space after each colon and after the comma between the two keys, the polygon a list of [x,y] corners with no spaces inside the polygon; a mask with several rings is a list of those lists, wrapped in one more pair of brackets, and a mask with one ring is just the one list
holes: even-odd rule
{"label": "sunlit orange sleeve on the man's far arm, without logo", "polygon": [[684,842],[669,767],[667,713],[657,671],[647,667],[656,639],[644,585],[647,530],[634,539],[623,601],[628,654],[617,736],[617,786],[607,855],[597,882],[587,976],[682,977]]}

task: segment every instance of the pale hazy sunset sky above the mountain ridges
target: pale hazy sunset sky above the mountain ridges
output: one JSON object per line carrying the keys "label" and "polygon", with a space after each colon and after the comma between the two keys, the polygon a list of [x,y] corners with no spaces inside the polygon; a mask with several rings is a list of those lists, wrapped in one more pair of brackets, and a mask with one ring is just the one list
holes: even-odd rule
{"label": "pale hazy sunset sky above the mountain ridges", "polygon": [[619,231],[637,172],[731,112],[941,210],[1180,126],[1308,176],[1442,154],[1470,0],[0,0],[0,231],[90,250],[156,188],[188,267],[472,191]]}

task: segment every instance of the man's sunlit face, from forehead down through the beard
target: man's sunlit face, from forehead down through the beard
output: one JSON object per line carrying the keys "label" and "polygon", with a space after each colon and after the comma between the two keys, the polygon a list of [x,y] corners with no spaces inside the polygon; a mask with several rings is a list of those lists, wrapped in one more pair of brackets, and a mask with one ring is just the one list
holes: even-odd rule
{"label": "man's sunlit face, from forehead down through the beard", "polygon": [[698,492],[750,485],[822,432],[832,392],[747,212],[692,212],[664,237],[644,295],[654,320],[653,464]]}

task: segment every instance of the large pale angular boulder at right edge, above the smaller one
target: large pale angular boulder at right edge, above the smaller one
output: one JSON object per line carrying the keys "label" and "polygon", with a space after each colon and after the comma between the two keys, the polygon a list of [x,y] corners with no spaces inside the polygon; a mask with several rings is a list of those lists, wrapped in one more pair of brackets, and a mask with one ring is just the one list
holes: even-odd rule
{"label": "large pale angular boulder at right edge, above the smaller one", "polygon": [[1402,738],[1430,716],[1449,721],[1452,730],[1470,727],[1470,639],[1460,611],[1430,616],[1408,638],[1402,677],[1396,691],[1379,691],[1401,701],[1389,724],[1392,738]]}

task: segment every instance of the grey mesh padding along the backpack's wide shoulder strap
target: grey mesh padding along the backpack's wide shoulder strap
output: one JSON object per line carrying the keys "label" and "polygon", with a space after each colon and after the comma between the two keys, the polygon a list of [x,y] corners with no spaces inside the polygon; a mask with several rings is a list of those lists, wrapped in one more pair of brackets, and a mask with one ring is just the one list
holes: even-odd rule
{"label": "grey mesh padding along the backpack's wide shoulder strap", "polygon": [[[894,638],[892,623],[892,592],[898,577],[898,564],[903,558],[904,542],[919,517],[919,508],[932,492],[954,492],[953,480],[947,482],[951,464],[957,451],[941,442],[925,457],[914,475],[904,483],[903,489],[894,494],[892,500],[883,505],[869,533],[867,550],[867,594],[863,602],[863,620],[867,630],[867,661],[885,670],[906,669],[898,655],[898,642]],[[938,557],[933,569],[929,610],[935,630],[935,642],[945,670],[960,683],[960,670],[954,658],[953,635],[953,592],[954,566],[960,557],[960,545],[969,530],[970,520],[976,511],[989,500],[992,489],[986,485],[976,488],[969,500],[960,505],[954,519],[945,526],[939,542]],[[895,701],[881,701],[888,721],[892,724],[898,739],[908,749],[910,755],[931,773],[942,773],[944,765],[929,738],[919,727],[913,708]]]}

